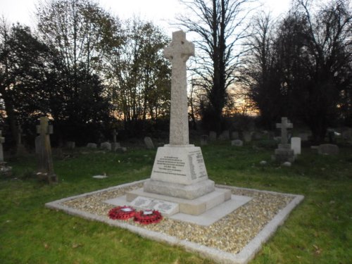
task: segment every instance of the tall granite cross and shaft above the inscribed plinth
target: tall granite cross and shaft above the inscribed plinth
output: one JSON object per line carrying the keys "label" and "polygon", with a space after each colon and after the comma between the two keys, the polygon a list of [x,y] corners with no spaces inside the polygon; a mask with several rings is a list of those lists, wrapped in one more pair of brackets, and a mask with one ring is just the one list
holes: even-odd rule
{"label": "tall granite cross and shaft above the inscribed plinth", "polygon": [[164,56],[172,64],[170,145],[188,145],[186,62],[190,56],[194,56],[194,44],[187,41],[186,33],[182,30],[173,32],[172,42],[164,49]]}

